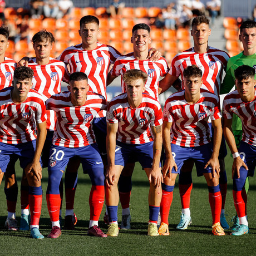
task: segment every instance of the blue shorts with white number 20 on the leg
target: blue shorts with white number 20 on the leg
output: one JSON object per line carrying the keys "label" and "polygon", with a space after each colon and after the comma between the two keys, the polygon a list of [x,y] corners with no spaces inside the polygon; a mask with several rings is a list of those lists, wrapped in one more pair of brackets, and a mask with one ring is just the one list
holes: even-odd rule
{"label": "blue shorts with white number 20 on the leg", "polygon": [[103,171],[102,159],[97,144],[91,144],[85,147],[62,147],[52,145],[48,161],[48,170],[66,169],[71,157],[79,157],[83,170],[101,169]]}

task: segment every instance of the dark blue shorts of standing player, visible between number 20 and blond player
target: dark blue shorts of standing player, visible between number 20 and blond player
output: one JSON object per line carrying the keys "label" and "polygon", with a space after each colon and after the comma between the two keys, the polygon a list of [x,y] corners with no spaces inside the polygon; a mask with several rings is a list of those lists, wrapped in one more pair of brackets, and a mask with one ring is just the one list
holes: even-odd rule
{"label": "dark blue shorts of standing player, visible between number 20 and blond player", "polygon": [[107,137],[107,122],[106,117],[95,117],[92,121],[92,130],[95,135],[97,145],[102,157],[107,157],[106,137]]}

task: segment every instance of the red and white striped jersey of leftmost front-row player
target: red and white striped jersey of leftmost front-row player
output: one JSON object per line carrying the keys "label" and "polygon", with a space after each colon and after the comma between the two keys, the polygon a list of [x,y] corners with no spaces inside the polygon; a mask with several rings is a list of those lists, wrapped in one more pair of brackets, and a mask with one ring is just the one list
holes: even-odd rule
{"label": "red and white striped jersey of leftmost front-row player", "polygon": [[36,139],[36,124],[46,121],[46,107],[40,93],[31,89],[26,101],[14,104],[13,87],[0,91],[0,141],[21,144]]}

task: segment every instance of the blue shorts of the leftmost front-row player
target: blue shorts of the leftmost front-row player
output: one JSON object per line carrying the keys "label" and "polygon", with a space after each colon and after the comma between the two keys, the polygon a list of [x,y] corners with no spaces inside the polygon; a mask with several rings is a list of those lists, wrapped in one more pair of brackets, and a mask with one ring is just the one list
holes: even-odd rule
{"label": "blue shorts of the leftmost front-row player", "polygon": [[[0,142],[0,169],[6,172],[7,165],[11,159],[18,157],[22,169],[25,169],[29,163],[32,163],[36,150],[36,140],[24,142],[21,144],[7,144]],[[17,159],[16,159],[17,160]],[[40,159],[42,166],[42,162]]]}

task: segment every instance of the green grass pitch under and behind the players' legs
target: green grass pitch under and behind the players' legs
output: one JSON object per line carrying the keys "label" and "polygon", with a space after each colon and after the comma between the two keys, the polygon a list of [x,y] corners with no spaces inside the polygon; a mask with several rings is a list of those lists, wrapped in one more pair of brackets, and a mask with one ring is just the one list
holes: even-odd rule
{"label": "green grass pitch under and behind the players' legs", "polygon": [[[226,157],[228,174],[228,194],[225,207],[227,221],[230,225],[235,214],[232,197],[231,166],[232,158]],[[18,184],[21,181],[21,169],[17,165]],[[224,237],[211,234],[211,213],[208,201],[208,188],[203,177],[196,177],[193,171],[193,190],[191,193],[191,226],[184,231],[175,229],[179,223],[181,210],[178,184],[174,189],[174,199],[169,215],[169,237],[147,237],[149,209],[147,194],[149,184],[146,174],[136,164],[132,176],[131,193],[131,230],[120,230],[116,238],[88,237],[90,209],[88,196],[90,179],[79,170],[78,186],[75,198],[75,213],[78,218],[76,230],[65,231],[58,239],[35,240],[29,238],[29,232],[8,232],[4,221],[7,215],[6,199],[3,191],[4,180],[0,189],[0,255],[255,255],[256,254],[256,178],[249,179],[248,221],[250,234],[233,237],[227,231]],[[40,230],[45,237],[50,233],[51,223],[46,205],[47,169],[43,169],[43,205],[40,219]],[[65,216],[65,204],[62,217]],[[107,226],[103,221],[105,206],[102,210],[99,225],[106,233]],[[21,214],[19,196],[17,219]],[[119,207],[121,223],[121,206]]]}

